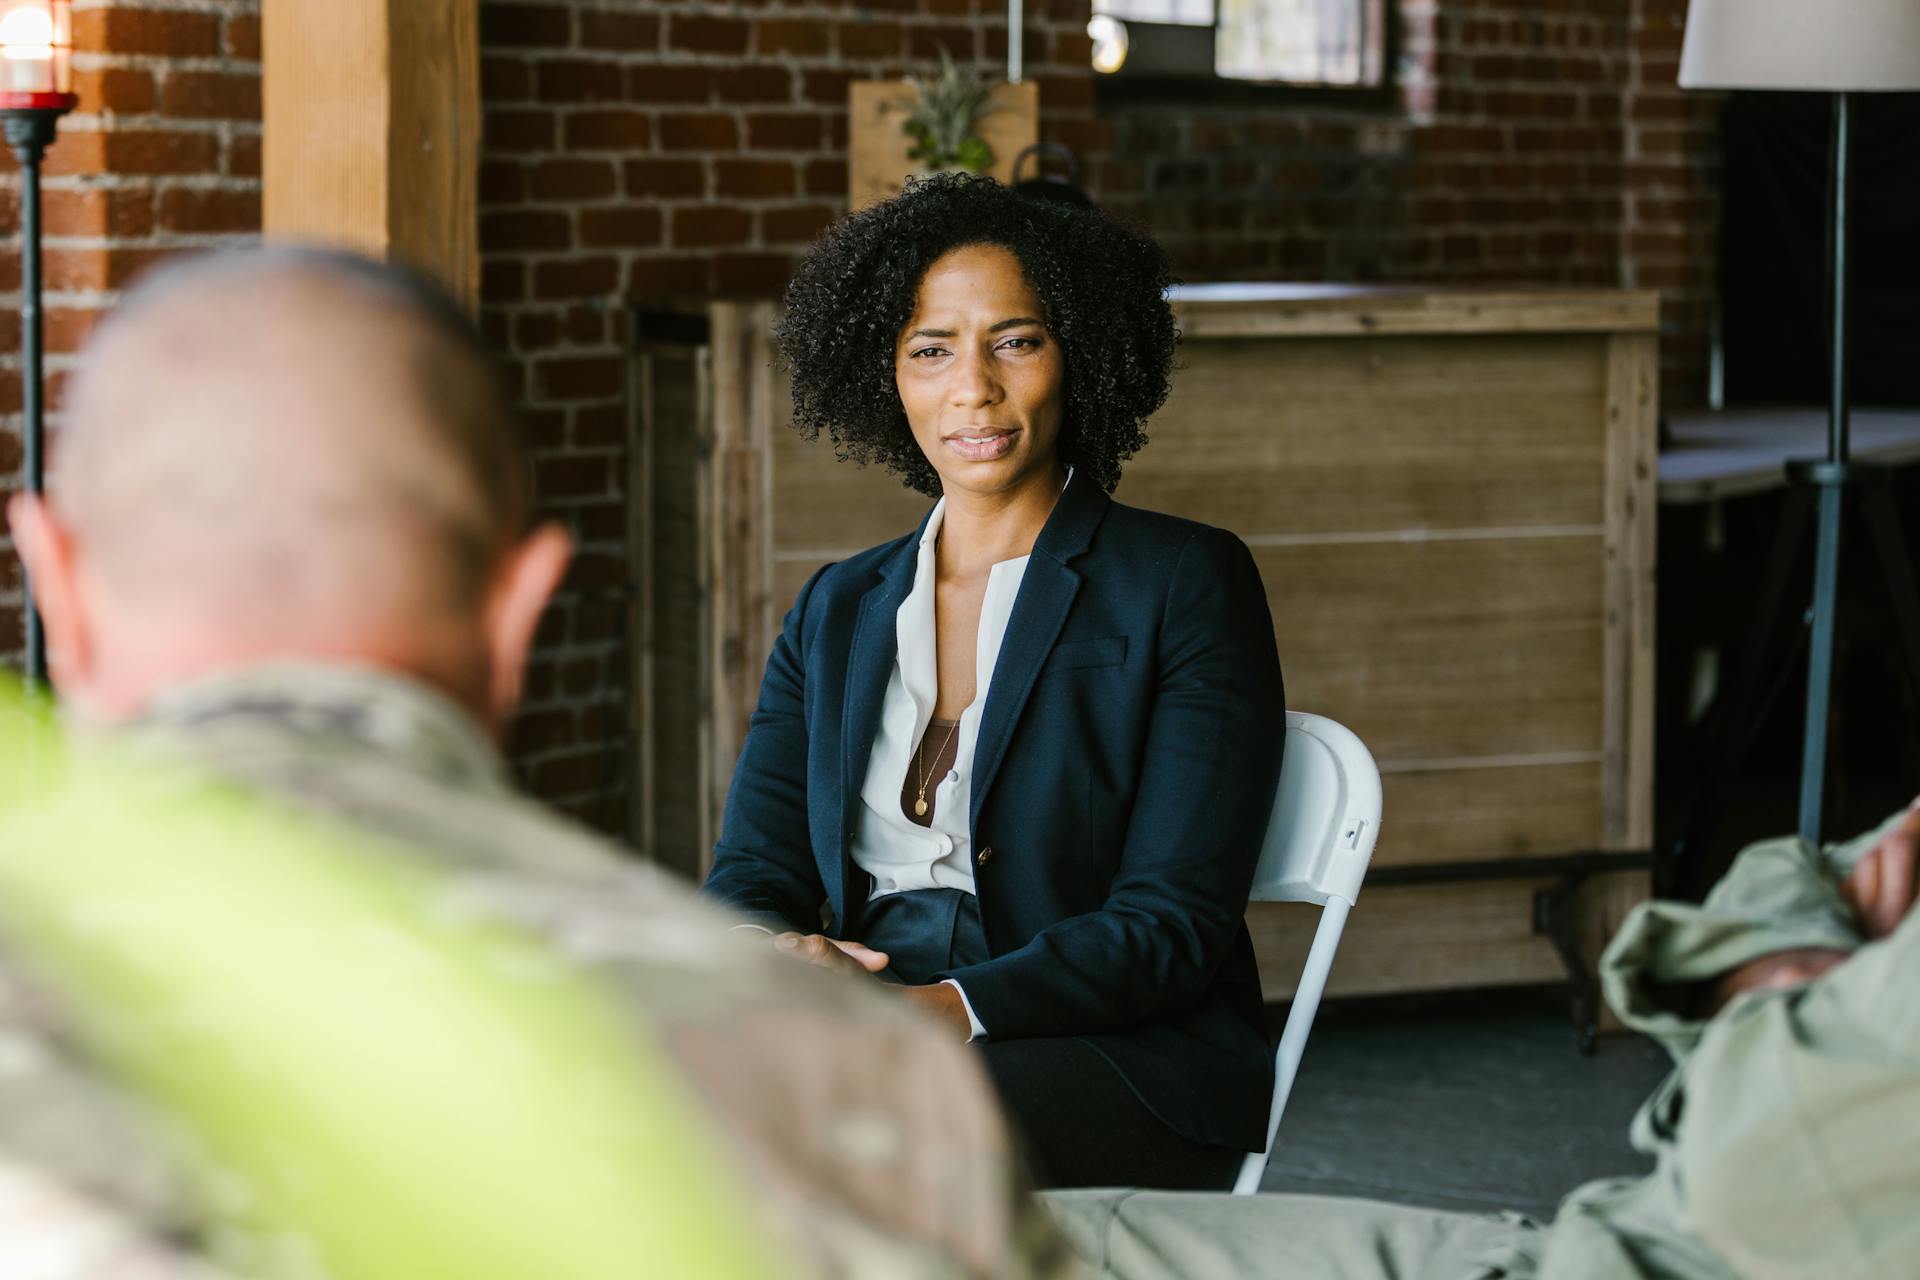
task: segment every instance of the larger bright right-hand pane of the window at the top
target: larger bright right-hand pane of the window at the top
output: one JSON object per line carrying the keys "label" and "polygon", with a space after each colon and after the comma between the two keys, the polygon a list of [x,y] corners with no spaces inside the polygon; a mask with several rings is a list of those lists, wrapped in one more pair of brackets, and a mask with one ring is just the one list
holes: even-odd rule
{"label": "larger bright right-hand pane of the window at the top", "polygon": [[1380,0],[1219,0],[1213,69],[1236,81],[1379,84]]}

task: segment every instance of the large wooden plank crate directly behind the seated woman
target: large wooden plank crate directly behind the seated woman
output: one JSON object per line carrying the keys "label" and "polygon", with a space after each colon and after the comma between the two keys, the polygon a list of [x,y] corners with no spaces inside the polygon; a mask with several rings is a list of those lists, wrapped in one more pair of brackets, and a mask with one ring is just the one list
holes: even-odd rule
{"label": "large wooden plank crate directly behind the seated woman", "polygon": [[[1375,865],[1647,848],[1657,297],[1200,286],[1175,305],[1173,397],[1116,497],[1225,526],[1254,549],[1288,704],[1344,722],[1380,762]],[[697,722],[655,723],[672,748],[651,750],[678,760],[699,743],[697,770],[680,760],[678,781],[653,787],[655,831],[697,841],[666,858],[689,873],[705,865],[793,595],[927,505],[787,428],[774,315],[712,305],[699,386],[678,393],[682,416],[655,388],[653,443],[636,451],[655,480],[697,486],[697,503],[676,501],[697,524],[699,564],[680,576],[703,583],[699,616],[651,624],[655,635],[691,626],[705,654],[691,693],[678,668],[655,670],[676,683],[657,695]],[[668,439],[682,443],[666,453],[695,462],[662,459]],[[655,591],[659,610],[685,599]],[[1561,977],[1532,927],[1542,883],[1369,889],[1329,990]],[[1597,879],[1584,950],[1644,894],[1644,873]],[[1267,990],[1284,994],[1313,921],[1258,908],[1252,923]]]}

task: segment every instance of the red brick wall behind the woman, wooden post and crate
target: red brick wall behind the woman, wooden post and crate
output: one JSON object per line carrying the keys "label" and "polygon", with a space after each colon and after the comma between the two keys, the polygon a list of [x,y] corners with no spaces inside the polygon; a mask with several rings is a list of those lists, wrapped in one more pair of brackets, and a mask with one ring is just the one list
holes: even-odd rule
{"label": "red brick wall behind the woman, wooden post and crate", "polygon": [[[1188,278],[1544,280],[1667,294],[1667,393],[1697,399],[1713,102],[1672,88],[1684,0],[1396,0],[1392,107],[1094,107],[1087,0],[1029,0],[1044,130]],[[48,336],[157,255],[259,226],[257,0],[79,0],[86,113],[50,157]],[[541,631],[515,760],[618,825],[628,760],[624,307],[778,290],[845,209],[847,84],[998,63],[998,0],[482,0],[484,326],[520,380],[545,510],[582,557]],[[15,209],[0,186],[0,225]],[[17,261],[0,257],[0,290]],[[6,319],[17,317],[13,297]],[[17,324],[0,326],[17,476]],[[4,480],[0,484],[15,484]],[[19,578],[0,543],[0,654]]]}

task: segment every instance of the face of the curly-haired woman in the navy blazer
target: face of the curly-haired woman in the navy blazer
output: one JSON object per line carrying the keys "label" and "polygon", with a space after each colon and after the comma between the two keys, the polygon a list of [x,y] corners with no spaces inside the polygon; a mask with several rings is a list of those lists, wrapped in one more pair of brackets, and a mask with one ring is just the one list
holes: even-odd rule
{"label": "face of the curly-haired woman in the navy blazer", "polygon": [[996,244],[927,267],[893,349],[906,422],[947,493],[1004,493],[1058,474],[1066,357],[1020,259]]}

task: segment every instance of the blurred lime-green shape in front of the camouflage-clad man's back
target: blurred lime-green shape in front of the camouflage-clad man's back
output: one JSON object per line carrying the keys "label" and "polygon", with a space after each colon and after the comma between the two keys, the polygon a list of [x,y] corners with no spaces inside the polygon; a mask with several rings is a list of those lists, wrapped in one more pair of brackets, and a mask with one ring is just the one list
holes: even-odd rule
{"label": "blurred lime-green shape in front of the camouflage-clad man's back", "polygon": [[211,1157],[255,1276],[768,1276],[659,1052],[561,956],[376,837],[0,689],[0,929]]}

